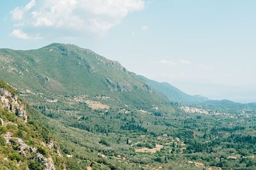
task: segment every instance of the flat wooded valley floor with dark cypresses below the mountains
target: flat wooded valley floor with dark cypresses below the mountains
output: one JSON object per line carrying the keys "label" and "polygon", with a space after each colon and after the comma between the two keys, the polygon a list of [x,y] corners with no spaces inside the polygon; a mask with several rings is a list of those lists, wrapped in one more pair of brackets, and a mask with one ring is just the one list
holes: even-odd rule
{"label": "flat wooded valley floor with dark cypresses below the mountains", "polygon": [[[65,100],[68,97],[62,98],[62,101]],[[54,109],[57,106],[58,109]],[[57,138],[71,141],[63,144],[77,154],[77,158],[100,163],[99,157],[108,157],[111,158],[106,160],[111,162],[108,164],[116,165],[115,161],[120,161],[121,157],[124,158],[123,163],[129,162],[138,168],[146,168],[148,164],[166,169],[170,165],[177,168],[179,164],[175,162],[182,160],[184,168],[188,169],[192,168],[189,161],[204,163],[205,167],[255,169],[255,114],[216,116],[188,113],[181,111],[179,105],[172,106],[175,109],[172,113],[129,109],[129,114],[119,112],[120,109],[110,109],[108,112],[93,110],[79,102],[68,107],[61,102],[35,107],[43,108],[42,113],[52,118],[51,127],[61,119],[65,128],[61,128],[61,131],[57,130],[60,128],[53,128],[53,131]],[[71,130],[70,127],[75,128]],[[60,132],[61,135],[58,135]],[[68,135],[70,133],[72,137]],[[164,148],[153,154],[134,152],[138,148],[155,148],[156,144]],[[80,148],[87,149],[82,152]],[[91,151],[92,154],[104,156],[95,154],[93,159]],[[119,167],[129,168],[125,164]]]}

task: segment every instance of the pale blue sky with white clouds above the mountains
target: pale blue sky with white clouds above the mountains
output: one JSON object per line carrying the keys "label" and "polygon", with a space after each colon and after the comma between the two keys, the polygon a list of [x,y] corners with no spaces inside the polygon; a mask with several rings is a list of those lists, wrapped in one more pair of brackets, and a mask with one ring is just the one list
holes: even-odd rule
{"label": "pale blue sky with white clouds above the mountains", "polygon": [[256,102],[256,1],[0,1],[0,48],[73,43],[190,95]]}

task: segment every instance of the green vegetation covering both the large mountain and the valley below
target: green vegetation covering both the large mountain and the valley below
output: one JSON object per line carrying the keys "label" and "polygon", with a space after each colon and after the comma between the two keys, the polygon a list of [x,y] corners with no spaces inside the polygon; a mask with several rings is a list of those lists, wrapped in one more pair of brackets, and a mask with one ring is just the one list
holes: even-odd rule
{"label": "green vegetation covering both the large mountain and the valley below", "polygon": [[31,119],[58,139],[68,169],[256,169],[254,104],[209,101],[190,104],[205,112],[184,111],[115,61],[74,45],[2,49],[0,63],[1,78],[40,111]]}

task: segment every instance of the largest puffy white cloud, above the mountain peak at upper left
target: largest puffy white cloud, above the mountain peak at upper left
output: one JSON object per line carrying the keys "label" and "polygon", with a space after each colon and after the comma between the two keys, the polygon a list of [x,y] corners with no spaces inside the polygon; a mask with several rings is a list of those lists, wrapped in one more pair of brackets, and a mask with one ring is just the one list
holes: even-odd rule
{"label": "largest puffy white cloud, above the mountain peak at upper left", "polygon": [[24,7],[16,7],[11,14],[16,26],[104,35],[129,13],[143,10],[144,6],[144,0],[31,0]]}

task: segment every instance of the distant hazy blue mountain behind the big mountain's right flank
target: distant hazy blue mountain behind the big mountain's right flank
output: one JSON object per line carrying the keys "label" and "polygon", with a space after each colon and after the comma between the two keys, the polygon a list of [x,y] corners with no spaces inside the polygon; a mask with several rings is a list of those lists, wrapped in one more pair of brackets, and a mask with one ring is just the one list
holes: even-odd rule
{"label": "distant hazy blue mountain behind the big mountain's right flank", "polygon": [[148,86],[156,89],[160,93],[162,93],[165,97],[167,97],[172,102],[180,102],[183,104],[196,104],[201,102],[206,102],[209,98],[202,97],[200,95],[188,95],[180,89],[175,88],[168,82],[157,82],[147,79],[146,77],[140,76],[145,82],[147,82]]}

